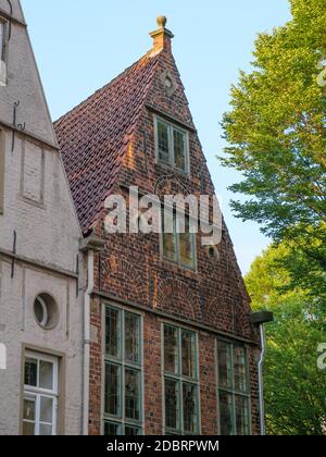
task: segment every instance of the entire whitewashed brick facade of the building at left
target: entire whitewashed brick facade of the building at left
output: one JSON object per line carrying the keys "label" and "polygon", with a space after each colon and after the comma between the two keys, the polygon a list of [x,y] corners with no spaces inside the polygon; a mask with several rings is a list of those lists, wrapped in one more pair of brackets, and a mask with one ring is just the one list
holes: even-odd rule
{"label": "entire whitewashed brick facade of the building at left", "polygon": [[[18,1],[12,2],[15,17],[23,18]],[[0,0],[1,9],[9,11],[7,0]],[[41,141],[18,133],[12,150],[12,131],[5,125],[13,121],[13,103],[17,100],[17,123],[26,122],[26,132]],[[15,231],[17,256],[32,263],[75,272],[80,237],[61,157],[45,145],[57,143],[27,33],[14,22],[8,85],[0,87],[0,128],[5,135],[4,207],[0,214],[0,344],[7,346],[8,353],[7,370],[0,370],[0,435],[20,433],[23,345],[65,356],[64,432],[79,434],[83,294],[76,297],[76,281],[68,275],[25,261],[15,262],[11,277],[11,259],[3,255],[12,251]],[[48,331],[38,325],[34,316],[35,297],[45,292],[55,299],[60,317],[58,325]]]}

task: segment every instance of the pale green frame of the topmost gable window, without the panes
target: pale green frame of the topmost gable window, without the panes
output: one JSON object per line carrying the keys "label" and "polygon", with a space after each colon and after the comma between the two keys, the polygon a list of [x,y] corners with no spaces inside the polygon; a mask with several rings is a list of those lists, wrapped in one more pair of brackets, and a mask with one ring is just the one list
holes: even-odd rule
{"label": "pale green frame of the topmost gable window, without the panes", "polygon": [[[160,160],[160,151],[159,151],[159,128],[158,123],[161,122],[165,124],[168,127],[168,157],[170,157],[170,163],[166,163],[162,160]],[[186,168],[185,170],[179,169],[175,164],[175,152],[174,152],[174,131],[179,132],[185,137],[185,160],[186,160]],[[154,133],[155,133],[155,157],[156,157],[156,163],[163,166],[168,166],[170,169],[175,170],[178,173],[189,175],[190,174],[190,157],[189,157],[189,132],[187,132],[185,128],[179,127],[178,125],[166,121],[164,118],[154,115]]]}

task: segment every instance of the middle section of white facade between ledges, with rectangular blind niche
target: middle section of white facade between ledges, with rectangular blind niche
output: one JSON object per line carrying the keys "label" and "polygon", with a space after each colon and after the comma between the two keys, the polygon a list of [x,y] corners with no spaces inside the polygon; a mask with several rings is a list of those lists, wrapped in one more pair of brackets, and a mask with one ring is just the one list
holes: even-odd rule
{"label": "middle section of white facade between ledges, with rectangular blind niche", "polygon": [[11,141],[7,129],[0,248],[12,250],[16,231],[20,256],[76,271],[80,233],[59,152],[23,135],[16,136],[12,152]]}

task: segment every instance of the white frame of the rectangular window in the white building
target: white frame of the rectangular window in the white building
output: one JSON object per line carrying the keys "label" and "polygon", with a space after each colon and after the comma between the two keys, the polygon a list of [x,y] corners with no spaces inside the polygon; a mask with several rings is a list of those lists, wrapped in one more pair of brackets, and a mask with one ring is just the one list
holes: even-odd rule
{"label": "white frame of the rectangular window in the white building", "polygon": [[[52,390],[41,388],[38,386],[32,386],[24,384],[24,395],[23,395],[23,411],[24,411],[24,402],[25,399],[34,399],[35,400],[35,421],[30,421],[24,419],[24,415],[22,418],[22,423],[34,423],[34,435],[39,435],[40,425],[51,425],[52,427],[52,436],[57,435],[58,430],[58,402],[59,402],[59,359],[53,356],[34,353],[34,351],[26,351],[25,353],[25,360],[24,360],[24,383],[25,383],[25,362],[26,359],[34,359],[37,360],[37,385],[39,385],[39,366],[40,361],[50,362],[53,365],[53,379]],[[40,402],[41,398],[50,398],[53,400],[53,409],[52,409],[52,423],[42,422],[40,421]]]}

